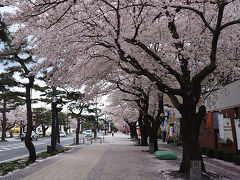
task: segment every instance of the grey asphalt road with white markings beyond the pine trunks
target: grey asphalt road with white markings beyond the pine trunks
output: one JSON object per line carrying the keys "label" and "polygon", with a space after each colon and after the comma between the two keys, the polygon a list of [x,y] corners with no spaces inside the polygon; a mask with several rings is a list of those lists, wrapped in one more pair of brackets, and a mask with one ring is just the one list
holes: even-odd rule
{"label": "grey asphalt road with white markings beyond the pine trunks", "polygon": [[[60,144],[63,146],[73,144],[74,137],[74,135],[60,137]],[[28,150],[25,147],[24,141],[13,138],[7,140],[7,142],[0,142],[0,162],[28,156]],[[32,142],[35,146],[36,152],[46,151],[47,145],[51,144],[51,137],[38,138],[37,141]]]}

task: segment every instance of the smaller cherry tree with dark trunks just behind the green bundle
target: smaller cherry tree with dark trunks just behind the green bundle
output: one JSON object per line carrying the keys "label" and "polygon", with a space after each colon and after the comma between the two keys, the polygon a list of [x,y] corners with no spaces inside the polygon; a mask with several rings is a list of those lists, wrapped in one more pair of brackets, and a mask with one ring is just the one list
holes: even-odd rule
{"label": "smaller cherry tree with dark trunks just behind the green bundle", "polygon": [[[149,136],[149,142],[151,145],[150,149],[157,151],[157,132],[162,121],[162,117],[160,115],[163,115],[164,113],[163,96],[159,94],[156,87],[147,80],[143,81],[142,79],[134,78],[134,82],[131,81],[132,80],[127,79],[116,82],[117,88],[121,92],[125,93],[124,96],[120,94],[118,98],[122,98],[122,101],[134,102],[134,106],[132,105],[132,107],[136,106],[135,108],[138,109],[139,116],[138,118],[135,118],[133,122],[138,121],[140,126],[141,145],[148,145],[147,138]],[[130,97],[126,96],[126,94],[129,94]],[[125,103],[125,105],[130,105],[129,108],[131,108],[131,104],[132,103]],[[124,119],[131,127],[131,121],[129,122],[127,118]]]}

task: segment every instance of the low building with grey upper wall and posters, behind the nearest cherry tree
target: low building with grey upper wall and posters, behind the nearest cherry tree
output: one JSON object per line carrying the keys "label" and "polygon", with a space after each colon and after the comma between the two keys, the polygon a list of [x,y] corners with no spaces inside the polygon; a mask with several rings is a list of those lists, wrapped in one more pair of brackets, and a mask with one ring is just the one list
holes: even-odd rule
{"label": "low building with grey upper wall and posters, behind the nearest cherry tree", "polygon": [[208,114],[200,128],[200,146],[239,153],[240,80],[211,93],[205,105]]}

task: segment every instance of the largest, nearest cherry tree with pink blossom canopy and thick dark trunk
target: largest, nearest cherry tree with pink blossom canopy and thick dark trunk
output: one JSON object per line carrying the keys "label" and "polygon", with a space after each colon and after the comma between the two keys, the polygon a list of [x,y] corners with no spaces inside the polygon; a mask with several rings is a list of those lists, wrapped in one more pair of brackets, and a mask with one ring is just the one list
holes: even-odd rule
{"label": "largest, nearest cherry tree with pink blossom canopy and thick dark trunk", "polygon": [[54,64],[61,82],[74,87],[112,74],[115,64],[148,77],[182,115],[180,171],[202,161],[198,136],[206,110],[197,104],[203,85],[239,75],[239,0],[6,3],[17,7],[9,23],[23,24],[13,44],[31,36],[35,55],[44,58],[35,71]]}

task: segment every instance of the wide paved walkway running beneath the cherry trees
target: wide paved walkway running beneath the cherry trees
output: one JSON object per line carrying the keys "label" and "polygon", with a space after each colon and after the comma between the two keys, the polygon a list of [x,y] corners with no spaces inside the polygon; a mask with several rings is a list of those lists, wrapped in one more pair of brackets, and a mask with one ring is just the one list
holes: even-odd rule
{"label": "wide paved walkway running beneath the cherry trees", "polygon": [[37,161],[0,179],[4,180],[159,180],[166,179],[148,147],[134,146],[129,136],[115,133],[104,143],[75,146],[52,158]]}

